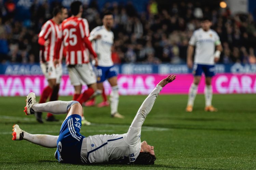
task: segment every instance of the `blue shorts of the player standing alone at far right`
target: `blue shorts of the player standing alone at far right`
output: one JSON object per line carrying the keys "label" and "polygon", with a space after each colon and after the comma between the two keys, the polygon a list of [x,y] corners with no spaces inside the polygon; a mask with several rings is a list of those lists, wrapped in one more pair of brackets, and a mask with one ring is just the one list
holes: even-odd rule
{"label": "blue shorts of the player standing alone at far right", "polygon": [[215,67],[214,65],[194,64],[194,76],[201,76],[202,72],[204,72],[205,77],[213,77],[215,75]]}

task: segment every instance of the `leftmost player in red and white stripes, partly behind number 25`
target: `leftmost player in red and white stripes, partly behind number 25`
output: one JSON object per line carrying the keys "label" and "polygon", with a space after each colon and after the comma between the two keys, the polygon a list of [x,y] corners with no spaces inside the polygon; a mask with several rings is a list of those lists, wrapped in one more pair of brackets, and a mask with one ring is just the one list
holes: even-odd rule
{"label": "leftmost player in red and white stripes, partly behind number 25", "polygon": [[[45,22],[38,38],[40,45],[40,66],[45,78],[48,81],[48,86],[43,89],[39,103],[45,103],[49,96],[49,101],[58,99],[59,85],[62,75],[62,65],[60,63],[54,64],[55,44],[58,33],[60,31],[59,24],[68,17],[67,8],[57,6],[53,9],[53,18]],[[63,51],[63,47],[61,49]],[[62,58],[62,52],[59,53]],[[38,122],[43,123],[42,113],[37,113],[36,119]],[[47,121],[58,121],[55,117],[48,113],[46,116]]]}

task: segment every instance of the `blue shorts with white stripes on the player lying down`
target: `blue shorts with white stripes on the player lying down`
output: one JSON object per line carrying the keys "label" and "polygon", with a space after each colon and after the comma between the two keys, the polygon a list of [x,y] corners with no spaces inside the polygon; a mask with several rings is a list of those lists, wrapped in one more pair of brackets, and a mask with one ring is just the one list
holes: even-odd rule
{"label": "blue shorts with white stripes on the player lying down", "polygon": [[60,163],[81,164],[81,147],[83,139],[81,135],[81,116],[71,115],[61,125],[57,140],[56,159]]}

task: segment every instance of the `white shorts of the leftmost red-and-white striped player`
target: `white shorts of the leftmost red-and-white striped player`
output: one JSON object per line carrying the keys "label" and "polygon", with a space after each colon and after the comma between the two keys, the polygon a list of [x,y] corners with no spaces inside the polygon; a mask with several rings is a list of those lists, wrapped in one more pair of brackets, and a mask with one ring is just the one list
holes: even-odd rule
{"label": "white shorts of the leftmost red-and-white striped player", "polygon": [[56,68],[53,62],[40,63],[42,72],[47,80],[56,79],[56,83],[59,84],[62,76],[62,65],[58,64]]}

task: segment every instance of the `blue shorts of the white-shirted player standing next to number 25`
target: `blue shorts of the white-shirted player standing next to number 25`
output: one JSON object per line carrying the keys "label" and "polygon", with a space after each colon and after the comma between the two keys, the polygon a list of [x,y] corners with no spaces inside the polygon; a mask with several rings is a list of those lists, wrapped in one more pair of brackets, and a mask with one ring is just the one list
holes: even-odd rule
{"label": "blue shorts of the white-shirted player standing next to number 25", "polygon": [[114,66],[111,67],[97,67],[97,83],[104,82],[106,79],[117,76],[117,71]]}

